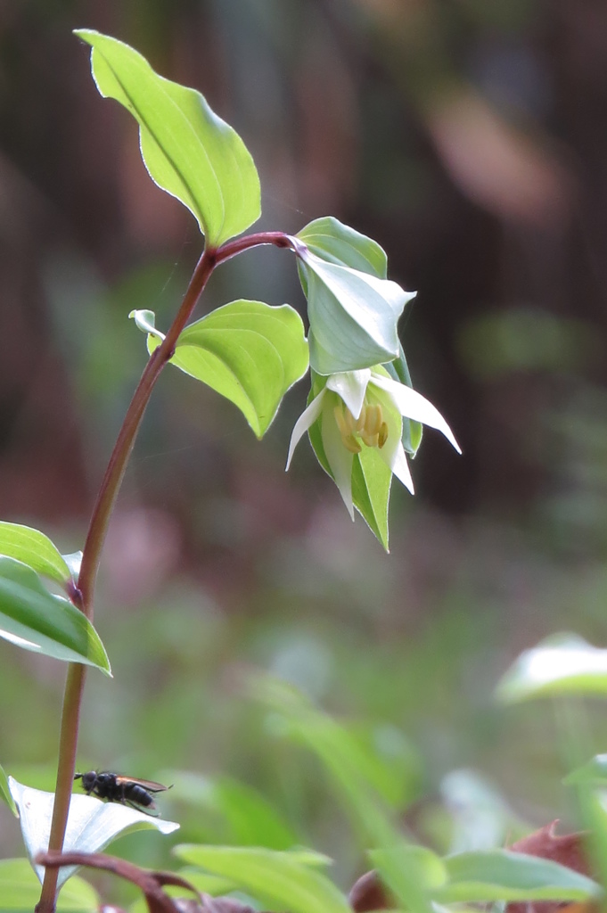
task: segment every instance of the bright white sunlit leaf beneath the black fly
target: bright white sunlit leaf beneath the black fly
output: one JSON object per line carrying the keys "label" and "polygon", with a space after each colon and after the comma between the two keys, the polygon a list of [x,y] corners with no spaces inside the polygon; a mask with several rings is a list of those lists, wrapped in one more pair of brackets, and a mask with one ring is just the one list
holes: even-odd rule
{"label": "bright white sunlit leaf beneath the black fly", "polygon": [[[44,867],[34,865],[32,860],[38,853],[47,852],[55,794],[31,789],[23,783],[16,782],[13,777],[9,777],[8,782],[19,810],[27,855],[38,879],[42,882]],[[79,853],[98,853],[122,834],[142,830],[172,834],[178,828],[179,824],[173,821],[152,818],[149,814],[138,812],[120,803],[103,803],[92,796],[75,794],[69,803],[68,827],[63,849],[66,853],[72,850]],[[60,868],[58,884],[62,885],[75,871],[75,866]]]}

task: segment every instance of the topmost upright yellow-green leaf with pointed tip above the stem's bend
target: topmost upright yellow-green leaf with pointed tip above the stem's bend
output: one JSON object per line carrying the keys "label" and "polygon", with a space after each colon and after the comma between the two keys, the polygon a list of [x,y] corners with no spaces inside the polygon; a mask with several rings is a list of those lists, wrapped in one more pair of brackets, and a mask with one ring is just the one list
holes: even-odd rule
{"label": "topmost upright yellow-green leaf with pointed tip above the stem's bend", "polygon": [[136,50],[91,29],[75,33],[93,48],[99,93],[120,101],[139,123],[141,156],[152,180],[198,220],[219,247],[260,215],[255,163],[238,134],[204,96],[153,71]]}

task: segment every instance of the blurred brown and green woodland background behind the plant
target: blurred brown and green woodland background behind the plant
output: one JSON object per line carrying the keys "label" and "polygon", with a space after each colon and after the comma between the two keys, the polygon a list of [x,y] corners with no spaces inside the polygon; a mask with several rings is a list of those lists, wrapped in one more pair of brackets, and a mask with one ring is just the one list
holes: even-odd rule
{"label": "blurred brown and green woodland background behind the plant", "polygon": [[[163,812],[215,842],[246,841],[216,802],[235,778],[351,881],[348,824],[246,698],[255,668],[401,765],[423,839],[448,844],[441,795],[464,807],[485,782],[531,824],[570,820],[551,706],[492,695],[545,635],[607,638],[607,6],[3,0],[0,514],[63,551],[82,545],[145,360],[127,315],[165,327],[201,250],[75,27],[204,92],[256,159],[260,228],[330,214],[382,244],[418,289],[401,326],[413,383],[464,449],[426,433],[387,556],[305,444],[284,473],[305,383],[257,443],[230,404],[165,372],[105,553],[114,679],[89,676],[82,768],[194,771],[192,802],[176,789]],[[302,310],[290,254],[225,265],[204,308],[239,297]],[[64,676],[0,642],[0,761],[26,782],[53,782]],[[585,712],[604,750],[602,707]],[[121,848],[166,862],[155,835]],[[0,855],[20,852],[0,809]]]}

